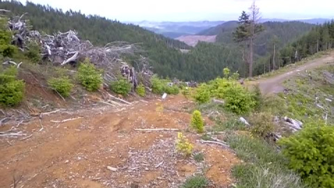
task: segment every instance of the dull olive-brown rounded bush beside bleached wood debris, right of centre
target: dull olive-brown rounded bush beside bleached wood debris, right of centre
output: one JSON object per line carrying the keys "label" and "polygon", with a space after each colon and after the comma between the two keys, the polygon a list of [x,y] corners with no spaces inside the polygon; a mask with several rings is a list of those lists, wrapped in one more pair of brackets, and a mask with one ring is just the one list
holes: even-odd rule
{"label": "dull olive-brown rounded bush beside bleached wood debris, right of centre", "polygon": [[253,113],[250,116],[249,123],[251,125],[250,132],[253,136],[260,136],[262,138],[273,132],[275,127],[273,116],[268,112]]}

